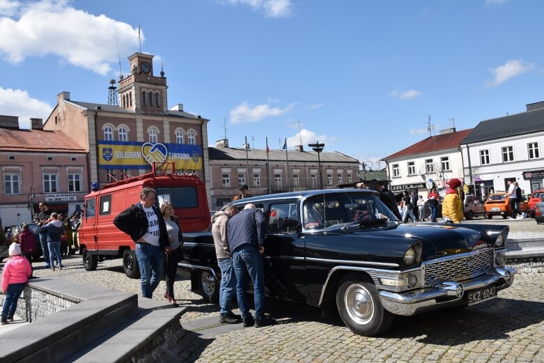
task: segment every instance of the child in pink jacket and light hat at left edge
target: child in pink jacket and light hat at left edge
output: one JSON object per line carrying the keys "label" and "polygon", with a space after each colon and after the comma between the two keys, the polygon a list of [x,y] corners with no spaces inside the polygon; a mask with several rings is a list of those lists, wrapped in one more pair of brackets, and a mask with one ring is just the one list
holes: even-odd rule
{"label": "child in pink jacket and light hat at left edge", "polygon": [[3,266],[2,293],[6,295],[3,302],[0,325],[13,321],[17,309],[17,300],[24,290],[24,285],[32,274],[29,260],[21,256],[21,246],[15,242],[10,245],[10,260]]}

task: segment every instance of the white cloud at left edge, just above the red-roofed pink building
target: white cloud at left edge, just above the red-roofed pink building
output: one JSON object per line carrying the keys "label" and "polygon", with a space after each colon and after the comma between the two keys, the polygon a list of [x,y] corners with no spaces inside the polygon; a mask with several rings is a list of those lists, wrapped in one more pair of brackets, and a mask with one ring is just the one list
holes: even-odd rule
{"label": "white cloud at left edge, just above the red-roofed pink building", "polygon": [[20,128],[29,128],[31,118],[43,118],[45,121],[53,107],[31,98],[26,91],[0,87],[0,109],[3,115],[18,116]]}

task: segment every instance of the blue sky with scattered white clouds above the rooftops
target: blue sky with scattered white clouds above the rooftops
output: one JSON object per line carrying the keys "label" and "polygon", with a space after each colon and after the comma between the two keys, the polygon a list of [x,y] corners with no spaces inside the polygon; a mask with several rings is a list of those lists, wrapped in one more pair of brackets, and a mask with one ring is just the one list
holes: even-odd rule
{"label": "blue sky with scattered white clouds above the rooftops", "polygon": [[0,114],[47,118],[61,91],[107,103],[141,26],[169,106],[209,118],[210,145],[226,121],[231,146],[302,137],[375,162],[428,137],[428,115],[435,133],[463,130],[544,100],[543,13],[540,0],[0,0]]}

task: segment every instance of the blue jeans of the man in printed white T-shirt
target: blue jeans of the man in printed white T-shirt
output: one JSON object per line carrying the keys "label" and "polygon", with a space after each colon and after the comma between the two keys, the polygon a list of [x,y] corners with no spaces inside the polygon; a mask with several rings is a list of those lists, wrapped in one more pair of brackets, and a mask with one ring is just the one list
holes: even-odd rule
{"label": "blue jeans of the man in printed white T-shirt", "polygon": [[164,274],[162,247],[136,243],[136,260],[140,268],[141,295],[150,299]]}

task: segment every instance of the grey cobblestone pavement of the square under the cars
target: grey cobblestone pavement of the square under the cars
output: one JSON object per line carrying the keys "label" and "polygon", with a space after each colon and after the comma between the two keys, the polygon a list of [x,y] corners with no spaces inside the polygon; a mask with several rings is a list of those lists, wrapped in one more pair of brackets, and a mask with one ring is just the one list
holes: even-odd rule
{"label": "grey cobblestone pavement of the square under the cars", "polygon": [[[139,293],[139,280],[125,276],[121,259],[103,261],[93,272],[84,270],[79,255],[63,264],[65,269],[50,271],[36,263],[35,275]],[[155,299],[164,300],[164,289],[162,282]],[[322,320],[313,307],[277,302],[269,307],[279,325],[229,325],[230,331],[214,333],[217,307],[190,292],[187,280],[176,282],[175,293],[188,308],[182,325],[214,322],[185,332],[178,362],[544,362],[542,274],[516,279],[498,298],[466,309],[397,317],[383,336],[372,338],[352,334],[341,321]]]}

